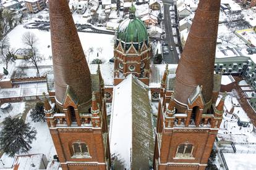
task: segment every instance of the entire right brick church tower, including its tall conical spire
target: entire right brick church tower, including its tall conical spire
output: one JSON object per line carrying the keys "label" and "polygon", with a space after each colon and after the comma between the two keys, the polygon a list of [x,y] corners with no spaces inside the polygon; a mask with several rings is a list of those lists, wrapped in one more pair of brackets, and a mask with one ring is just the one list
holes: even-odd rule
{"label": "entire right brick church tower, including its tall conical spire", "polygon": [[164,72],[154,155],[154,169],[205,169],[220,127],[224,95],[216,106],[221,75],[214,75],[220,0],[198,4],[174,91],[164,87]]}

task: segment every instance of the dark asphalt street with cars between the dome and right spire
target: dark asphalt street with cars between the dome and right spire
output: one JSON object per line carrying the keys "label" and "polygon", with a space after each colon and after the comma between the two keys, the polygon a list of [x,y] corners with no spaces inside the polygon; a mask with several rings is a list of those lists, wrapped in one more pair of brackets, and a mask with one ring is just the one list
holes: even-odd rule
{"label": "dark asphalt street with cars between the dome and right spire", "polygon": [[177,54],[176,44],[174,42],[173,30],[171,26],[171,15],[169,12],[169,7],[171,5],[166,4],[166,3],[169,3],[167,0],[163,0],[163,2],[164,2],[163,22],[164,22],[164,28],[165,28],[164,42],[168,44],[168,47],[173,46],[173,51],[169,51],[169,54],[163,54],[163,60],[164,60],[164,63],[177,64],[179,62],[179,55]]}

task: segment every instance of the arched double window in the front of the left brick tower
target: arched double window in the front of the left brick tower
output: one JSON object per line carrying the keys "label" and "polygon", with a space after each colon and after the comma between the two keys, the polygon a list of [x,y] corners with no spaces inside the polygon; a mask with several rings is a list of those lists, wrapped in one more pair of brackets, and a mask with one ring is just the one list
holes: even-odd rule
{"label": "arched double window in the front of the left brick tower", "polygon": [[83,158],[90,156],[87,145],[84,142],[80,142],[80,140],[72,144],[72,151],[72,158]]}

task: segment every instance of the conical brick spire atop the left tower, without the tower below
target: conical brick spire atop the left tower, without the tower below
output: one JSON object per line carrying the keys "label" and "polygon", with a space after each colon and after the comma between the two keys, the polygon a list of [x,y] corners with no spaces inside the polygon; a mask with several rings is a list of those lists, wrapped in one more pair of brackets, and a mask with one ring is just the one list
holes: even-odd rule
{"label": "conical brick spire atop the left tower, without the tower below", "polygon": [[79,104],[90,104],[92,80],[74,20],[66,0],[49,1],[56,100],[64,102],[67,85]]}

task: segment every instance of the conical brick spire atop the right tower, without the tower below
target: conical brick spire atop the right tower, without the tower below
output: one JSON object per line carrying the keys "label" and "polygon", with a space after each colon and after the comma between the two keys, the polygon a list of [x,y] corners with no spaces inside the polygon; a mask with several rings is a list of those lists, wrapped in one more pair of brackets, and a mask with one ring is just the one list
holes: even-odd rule
{"label": "conical brick spire atop the right tower, without the tower below", "polygon": [[175,99],[187,104],[189,95],[198,85],[203,88],[205,103],[213,93],[213,72],[221,0],[202,0],[189,31],[176,71]]}

